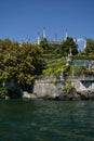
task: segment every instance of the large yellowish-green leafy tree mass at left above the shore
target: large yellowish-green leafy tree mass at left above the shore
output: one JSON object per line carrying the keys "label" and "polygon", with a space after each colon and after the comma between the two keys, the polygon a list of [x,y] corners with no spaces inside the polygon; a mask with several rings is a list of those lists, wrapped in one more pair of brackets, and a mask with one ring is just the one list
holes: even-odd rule
{"label": "large yellowish-green leafy tree mass at left above the shore", "polygon": [[30,42],[0,40],[0,81],[14,79],[19,86],[31,84],[43,69],[43,49]]}

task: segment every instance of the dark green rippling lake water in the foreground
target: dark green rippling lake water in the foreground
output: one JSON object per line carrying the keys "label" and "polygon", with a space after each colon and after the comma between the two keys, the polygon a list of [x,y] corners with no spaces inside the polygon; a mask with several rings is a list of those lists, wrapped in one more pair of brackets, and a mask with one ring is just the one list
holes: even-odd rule
{"label": "dark green rippling lake water in the foreground", "polygon": [[94,101],[0,101],[0,141],[94,141]]}

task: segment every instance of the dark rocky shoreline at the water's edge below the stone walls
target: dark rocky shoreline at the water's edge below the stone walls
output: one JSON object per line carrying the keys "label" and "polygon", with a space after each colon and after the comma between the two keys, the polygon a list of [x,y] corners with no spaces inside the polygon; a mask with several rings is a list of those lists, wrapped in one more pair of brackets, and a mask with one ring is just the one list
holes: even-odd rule
{"label": "dark rocky shoreline at the water's edge below the stone walls", "polygon": [[[28,95],[27,95],[28,94]],[[61,95],[57,97],[50,97],[50,95],[44,95],[44,97],[38,97],[36,93],[27,93],[26,97],[24,95],[24,99],[31,99],[31,100],[94,100],[94,91],[76,91],[72,90],[70,92],[63,92]]]}

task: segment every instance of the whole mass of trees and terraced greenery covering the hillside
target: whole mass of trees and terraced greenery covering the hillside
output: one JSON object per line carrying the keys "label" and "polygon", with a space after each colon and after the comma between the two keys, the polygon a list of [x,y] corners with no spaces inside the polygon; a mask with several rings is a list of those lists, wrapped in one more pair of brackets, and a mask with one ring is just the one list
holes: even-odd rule
{"label": "whole mass of trees and terraced greenery covering the hillside", "polygon": [[86,41],[85,51],[78,54],[78,46],[70,37],[61,43],[49,42],[43,38],[40,46],[30,42],[19,44],[10,39],[0,40],[0,82],[13,79],[24,88],[26,85],[30,86],[33,79],[41,75],[57,76],[61,73],[65,76],[82,75],[85,68],[83,66],[66,66],[65,56],[71,49],[71,53],[75,55],[73,60],[76,57],[89,59],[90,56],[94,60],[94,41]]}

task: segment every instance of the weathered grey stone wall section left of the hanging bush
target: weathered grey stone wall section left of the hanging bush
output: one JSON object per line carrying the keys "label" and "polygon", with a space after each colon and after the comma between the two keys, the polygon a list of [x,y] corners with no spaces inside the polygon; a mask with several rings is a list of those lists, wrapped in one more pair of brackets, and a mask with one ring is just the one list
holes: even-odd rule
{"label": "weathered grey stone wall section left of the hanging bush", "polygon": [[46,77],[35,81],[33,93],[37,93],[39,98],[56,98],[62,93],[63,87],[63,82],[56,77]]}

